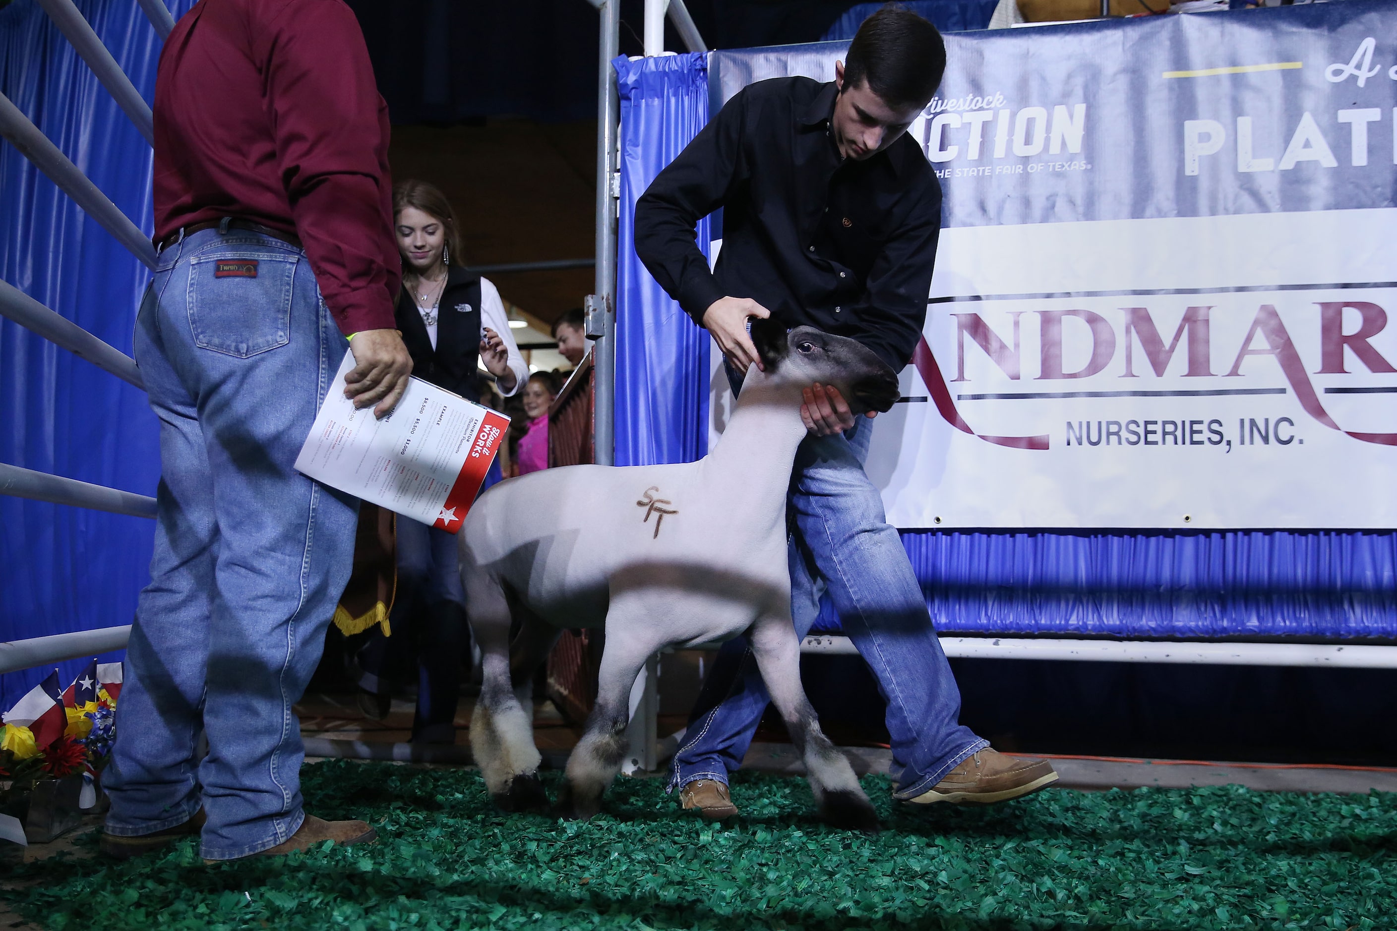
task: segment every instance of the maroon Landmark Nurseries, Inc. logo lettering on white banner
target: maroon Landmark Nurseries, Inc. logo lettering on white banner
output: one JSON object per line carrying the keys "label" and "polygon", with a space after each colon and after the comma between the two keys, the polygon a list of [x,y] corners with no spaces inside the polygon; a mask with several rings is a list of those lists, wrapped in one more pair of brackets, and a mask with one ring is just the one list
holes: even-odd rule
{"label": "maroon Landmark Nurseries, Inc. logo lettering on white banner", "polygon": [[[1076,299],[1076,307],[1051,310],[1006,300],[996,310],[947,314],[933,331],[936,355],[923,339],[914,364],[953,427],[1006,447],[1048,449],[1056,433],[1065,447],[1201,447],[1227,454],[1235,445],[1303,445],[1306,422],[1362,442],[1397,445],[1397,433],[1341,427],[1326,403],[1343,398],[1322,401],[1397,392],[1397,384],[1372,377],[1397,374],[1397,332],[1389,331],[1386,308],[1343,295],[1301,300],[1299,293],[1282,289],[1260,300],[1214,295],[1213,303],[1194,295],[1157,299],[1154,306],[1125,306],[1144,303],[1139,297]],[[1386,293],[1397,297],[1397,286]],[[954,360],[954,368],[943,371],[937,357]],[[1049,433],[986,434],[967,423],[985,401],[1051,401],[1053,416],[1069,416]],[[1017,416],[1023,408],[1006,415],[1013,406],[996,405],[1002,423],[1038,419]],[[1377,416],[1384,409],[1376,409]]]}

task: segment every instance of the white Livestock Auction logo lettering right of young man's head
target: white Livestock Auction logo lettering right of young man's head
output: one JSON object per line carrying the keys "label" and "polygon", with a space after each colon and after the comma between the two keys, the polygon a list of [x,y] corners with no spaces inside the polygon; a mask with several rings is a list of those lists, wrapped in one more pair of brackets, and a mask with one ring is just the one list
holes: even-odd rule
{"label": "white Livestock Auction logo lettering right of young man's head", "polygon": [[996,91],[932,98],[922,116],[918,138],[926,159],[933,165],[957,162],[937,167],[940,179],[1091,170],[1085,159],[1070,158],[1081,155],[1085,103],[1055,103],[1051,112],[1046,106],[1014,107]]}

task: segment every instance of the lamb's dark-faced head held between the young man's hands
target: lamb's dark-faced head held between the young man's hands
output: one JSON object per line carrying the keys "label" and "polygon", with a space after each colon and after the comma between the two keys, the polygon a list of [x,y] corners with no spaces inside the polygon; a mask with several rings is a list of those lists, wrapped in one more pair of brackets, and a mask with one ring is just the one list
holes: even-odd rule
{"label": "lamb's dark-faced head held between the young man's hands", "polygon": [[800,387],[834,385],[856,415],[887,412],[898,398],[897,373],[872,349],[848,336],[814,327],[787,332],[774,320],[753,320],[752,342],[770,378]]}

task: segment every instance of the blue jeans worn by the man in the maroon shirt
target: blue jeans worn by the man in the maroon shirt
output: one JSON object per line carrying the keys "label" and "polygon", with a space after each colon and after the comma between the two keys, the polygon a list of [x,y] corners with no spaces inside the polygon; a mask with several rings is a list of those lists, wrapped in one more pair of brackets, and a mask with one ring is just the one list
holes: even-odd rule
{"label": "blue jeans worn by the man in the maroon shirt", "polygon": [[201,853],[228,860],[305,819],[292,703],[349,578],[358,501],[292,463],[345,349],[300,250],[210,229],[161,254],[136,362],[162,477],[102,776],[113,835],[173,828],[203,805]]}

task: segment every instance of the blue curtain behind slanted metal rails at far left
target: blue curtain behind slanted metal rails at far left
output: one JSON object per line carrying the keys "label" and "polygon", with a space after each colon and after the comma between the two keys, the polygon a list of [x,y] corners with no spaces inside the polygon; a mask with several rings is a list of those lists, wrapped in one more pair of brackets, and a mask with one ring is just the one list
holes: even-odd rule
{"label": "blue curtain behind slanted metal rails at far left", "polygon": [[[147,100],[159,36],[131,0],[77,0]],[[193,0],[176,0],[179,17]],[[0,10],[4,92],[142,230],[151,148],[32,0]],[[122,352],[149,272],[8,144],[0,142],[0,278]],[[0,462],[155,494],[145,395],[0,321]],[[0,639],[130,624],[155,523],[0,497]],[[113,655],[119,657],[119,655]],[[63,684],[84,660],[64,663]],[[0,676],[0,708],[46,669]]]}

